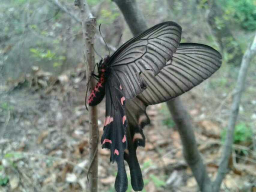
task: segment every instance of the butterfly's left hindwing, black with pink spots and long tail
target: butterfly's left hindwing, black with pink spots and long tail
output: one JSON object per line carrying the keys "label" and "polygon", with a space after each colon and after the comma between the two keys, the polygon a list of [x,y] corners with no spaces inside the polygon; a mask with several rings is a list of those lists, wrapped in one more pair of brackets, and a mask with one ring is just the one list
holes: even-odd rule
{"label": "butterfly's left hindwing, black with pink spots and long tail", "polygon": [[110,149],[110,161],[117,163],[116,191],[124,192],[128,186],[128,179],[124,165],[124,150],[127,148],[125,116],[125,98],[122,86],[115,76],[110,75],[106,83],[106,120],[104,133],[101,137],[102,148]]}

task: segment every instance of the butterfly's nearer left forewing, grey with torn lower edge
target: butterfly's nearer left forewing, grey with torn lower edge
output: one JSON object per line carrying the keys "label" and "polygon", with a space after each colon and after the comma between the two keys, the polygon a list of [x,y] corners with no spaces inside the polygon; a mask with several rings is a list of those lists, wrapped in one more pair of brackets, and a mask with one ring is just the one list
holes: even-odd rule
{"label": "butterfly's nearer left forewing, grey with torn lower edge", "polygon": [[125,98],[134,98],[145,88],[141,71],[154,75],[172,58],[179,46],[181,27],[175,22],[163,22],[137,35],[121,46],[108,65],[120,80]]}

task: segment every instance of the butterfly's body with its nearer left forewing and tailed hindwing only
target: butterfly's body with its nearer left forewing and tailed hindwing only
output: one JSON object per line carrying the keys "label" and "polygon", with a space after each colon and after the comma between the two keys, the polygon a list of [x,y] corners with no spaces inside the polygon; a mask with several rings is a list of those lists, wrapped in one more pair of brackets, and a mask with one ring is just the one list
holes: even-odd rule
{"label": "butterfly's body with its nearer left forewing and tailed hindwing only", "polygon": [[125,102],[146,88],[143,71],[157,75],[172,59],[181,40],[181,27],[175,22],[163,22],[140,33],[123,44],[111,56],[98,64],[99,81],[89,96],[88,104],[99,104],[106,95],[106,120],[101,138],[102,148],[110,149],[110,161],[117,162],[115,188],[127,190],[124,165],[127,149]]}

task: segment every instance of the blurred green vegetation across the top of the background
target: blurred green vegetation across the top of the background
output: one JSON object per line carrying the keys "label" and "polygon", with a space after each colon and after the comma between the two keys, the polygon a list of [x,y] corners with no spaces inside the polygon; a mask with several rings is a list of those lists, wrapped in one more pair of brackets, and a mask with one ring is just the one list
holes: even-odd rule
{"label": "blurred green vegetation across the top of the background", "polygon": [[[73,0],[59,2],[79,18]],[[119,46],[117,42],[121,34],[121,43],[131,37],[123,26],[125,22],[118,7],[112,1],[89,0],[88,3],[97,17],[97,23],[102,23],[103,38],[108,44]],[[82,56],[78,56],[82,55],[83,46],[80,23],[59,7],[50,1],[36,0],[3,0],[1,5],[0,68],[2,66],[1,73],[5,79],[16,79],[29,73],[33,65],[58,74],[83,62]],[[211,8],[208,1],[138,0],[138,5],[145,18],[150,18],[146,19],[149,26],[174,20],[183,28],[182,42],[206,43],[219,49],[207,27],[205,16]],[[250,33],[256,29],[256,5],[254,0],[219,0],[218,6],[223,10],[223,15],[215,17],[217,28],[221,29],[228,23],[232,34],[237,36],[223,39],[227,49],[223,50],[222,55],[225,61],[229,61],[235,53],[230,54],[228,49],[242,47],[244,51]],[[102,47],[104,45],[96,39],[96,50],[101,55],[107,54]]]}

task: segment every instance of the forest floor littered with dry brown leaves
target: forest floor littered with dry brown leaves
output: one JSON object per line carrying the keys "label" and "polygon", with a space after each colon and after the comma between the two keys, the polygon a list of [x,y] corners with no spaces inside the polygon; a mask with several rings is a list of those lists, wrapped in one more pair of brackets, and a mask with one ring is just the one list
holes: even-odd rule
{"label": "forest floor littered with dry brown leaves", "polygon": [[[227,127],[238,73],[238,69],[230,73],[229,66],[222,68],[181,96],[212,179],[218,169],[223,145],[220,136]],[[89,126],[84,106],[85,70],[77,67],[56,77],[37,67],[33,70],[26,78],[9,80],[0,87],[0,192],[86,191]],[[251,128],[256,126],[255,71],[249,72],[238,119],[238,125]],[[98,112],[101,135],[104,102]],[[149,106],[147,113],[151,125],[144,128],[146,146],[137,150],[143,191],[198,191],[167,107]],[[99,143],[99,191],[114,192],[117,167],[109,158],[109,151]],[[242,191],[256,181],[255,149],[250,141],[236,144],[230,168],[221,191]],[[128,166],[126,170],[129,177]],[[250,190],[256,191],[256,187]]]}

